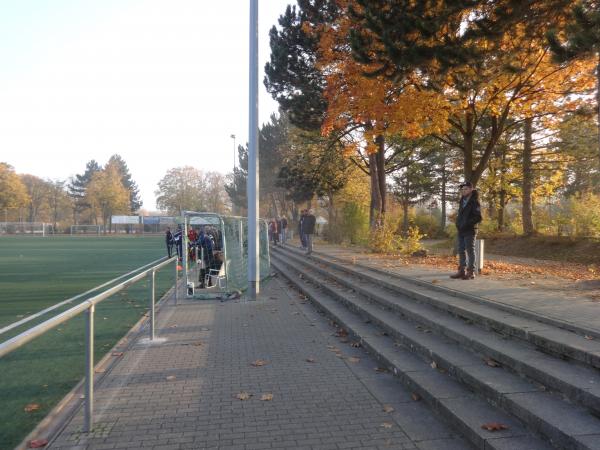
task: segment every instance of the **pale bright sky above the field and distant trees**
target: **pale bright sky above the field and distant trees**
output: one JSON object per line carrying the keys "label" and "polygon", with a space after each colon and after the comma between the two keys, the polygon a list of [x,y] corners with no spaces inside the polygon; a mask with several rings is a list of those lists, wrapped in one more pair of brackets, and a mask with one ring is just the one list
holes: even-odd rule
{"label": "pale bright sky above the field and distant trees", "polygon": [[[269,29],[259,0],[259,123]],[[68,179],[118,153],[155,210],[173,167],[231,172],[248,136],[247,0],[0,0],[0,162]]]}

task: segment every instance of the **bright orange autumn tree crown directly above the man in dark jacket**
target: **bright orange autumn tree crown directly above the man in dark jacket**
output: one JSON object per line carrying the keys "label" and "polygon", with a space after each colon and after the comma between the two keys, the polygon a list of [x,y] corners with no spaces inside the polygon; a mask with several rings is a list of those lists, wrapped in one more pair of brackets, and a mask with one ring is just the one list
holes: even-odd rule
{"label": "bright orange autumn tree crown directly above the man in dark jacket", "polygon": [[[430,3],[352,2],[353,55],[370,67],[365,75],[383,75],[399,87],[414,82],[445,98],[450,128],[436,135],[463,153],[465,178],[477,183],[511,114],[583,88],[585,71],[573,79],[581,67],[552,64],[543,33],[532,26],[560,14],[548,2]],[[486,136],[479,148],[477,134]]]}

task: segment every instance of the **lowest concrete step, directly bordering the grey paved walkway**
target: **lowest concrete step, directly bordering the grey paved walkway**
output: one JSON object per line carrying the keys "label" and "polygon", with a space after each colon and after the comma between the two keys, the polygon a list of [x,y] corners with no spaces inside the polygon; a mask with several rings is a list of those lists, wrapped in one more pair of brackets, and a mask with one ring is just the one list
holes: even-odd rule
{"label": "lowest concrete step, directly bordering the grey paved walkway", "polygon": [[[449,423],[479,449],[549,449],[554,448],[527,430],[519,420],[482,400],[464,384],[448,376],[444,369],[433,368],[431,363],[417,356],[405,346],[398,345],[383,334],[365,316],[356,314],[343,303],[325,292],[322,286],[300,277],[295,267],[272,255],[272,264],[315,306],[347,330],[379,361],[407,386],[415,398],[422,399],[434,413]],[[487,431],[486,423],[501,423],[508,429]]]}

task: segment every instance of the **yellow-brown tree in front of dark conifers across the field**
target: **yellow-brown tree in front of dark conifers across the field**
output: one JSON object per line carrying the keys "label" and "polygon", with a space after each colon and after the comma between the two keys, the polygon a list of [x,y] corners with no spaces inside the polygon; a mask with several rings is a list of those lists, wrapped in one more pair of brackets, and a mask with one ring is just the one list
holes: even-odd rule
{"label": "yellow-brown tree in front of dark conifers across the field", "polygon": [[85,201],[90,205],[96,219],[100,217],[104,232],[111,224],[111,216],[129,212],[129,191],[123,185],[118,168],[107,164],[92,175],[85,190]]}

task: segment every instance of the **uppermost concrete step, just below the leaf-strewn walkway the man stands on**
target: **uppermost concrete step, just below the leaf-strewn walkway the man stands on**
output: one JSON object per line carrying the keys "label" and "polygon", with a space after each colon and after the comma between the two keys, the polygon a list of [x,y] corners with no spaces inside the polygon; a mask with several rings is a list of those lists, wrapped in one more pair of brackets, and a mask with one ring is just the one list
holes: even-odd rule
{"label": "uppermost concrete step, just below the leaf-strewn walkway the man stands on", "polygon": [[[280,251],[279,249],[277,251]],[[291,248],[281,250],[290,255],[300,256]],[[306,258],[305,255],[302,255]],[[507,336],[527,341],[545,353],[568,358],[600,369],[600,340],[590,339],[589,334],[578,334],[545,321],[543,317],[528,314],[521,310],[507,311],[496,303],[485,299],[474,300],[472,296],[457,295],[431,283],[406,279],[397,274],[375,271],[369,267],[344,263],[324,255],[311,255],[317,264],[347,273],[352,278],[373,282],[390,291],[427,303],[454,316],[471,320],[476,325],[493,329]]]}

